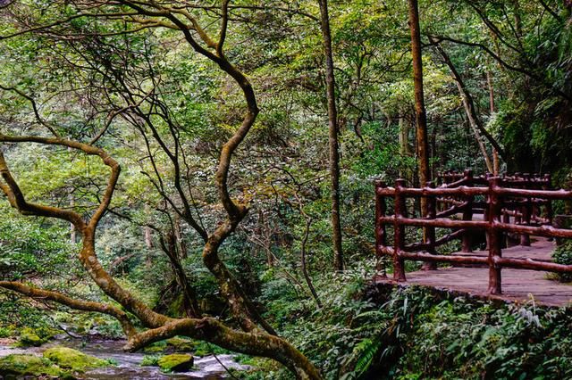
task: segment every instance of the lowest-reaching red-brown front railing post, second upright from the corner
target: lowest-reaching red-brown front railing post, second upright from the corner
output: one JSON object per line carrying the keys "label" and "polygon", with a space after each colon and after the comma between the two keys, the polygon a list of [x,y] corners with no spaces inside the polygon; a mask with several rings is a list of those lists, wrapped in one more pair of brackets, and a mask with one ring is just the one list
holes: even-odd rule
{"label": "lowest-reaching red-brown front railing post, second upright from the corner", "polygon": [[495,226],[501,222],[502,200],[496,190],[501,186],[501,178],[489,178],[489,225],[487,236],[489,243],[489,289],[491,294],[502,293],[501,267],[495,263],[496,258],[501,258],[502,233]]}

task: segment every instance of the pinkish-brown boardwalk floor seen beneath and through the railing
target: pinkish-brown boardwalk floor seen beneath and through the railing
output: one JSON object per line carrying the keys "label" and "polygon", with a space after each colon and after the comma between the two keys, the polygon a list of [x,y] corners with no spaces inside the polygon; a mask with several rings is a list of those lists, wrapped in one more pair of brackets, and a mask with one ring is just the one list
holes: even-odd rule
{"label": "pinkish-brown boardwalk floor seen beneath and through the railing", "polygon": [[[551,260],[554,244],[546,239],[533,240],[530,247],[514,246],[502,250],[503,257]],[[456,253],[458,255],[487,256],[488,252]],[[555,276],[551,274],[551,276]],[[438,270],[407,273],[407,282],[401,285],[424,285],[436,289],[467,293],[469,295],[504,300],[508,302],[534,302],[548,306],[564,306],[572,302],[572,285],[548,278],[543,271],[502,269],[502,295],[487,294],[488,268],[439,268]],[[393,283],[391,279],[378,278],[376,282]]]}

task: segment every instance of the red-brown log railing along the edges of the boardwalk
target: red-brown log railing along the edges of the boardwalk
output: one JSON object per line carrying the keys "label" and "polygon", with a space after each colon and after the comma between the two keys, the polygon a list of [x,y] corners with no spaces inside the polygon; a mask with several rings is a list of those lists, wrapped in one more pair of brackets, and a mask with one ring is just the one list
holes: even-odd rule
{"label": "red-brown log railing along the edges of the boardwalk", "polygon": [[[520,235],[522,245],[530,245],[530,235],[572,238],[572,230],[552,226],[552,201],[572,199],[572,191],[550,190],[548,176],[474,178],[470,170],[446,176],[439,187],[428,183],[423,188],[411,188],[403,179],[398,179],[394,187],[382,181],[375,183],[376,253],[380,258],[391,256],[396,281],[406,281],[405,260],[486,265],[488,292],[492,294],[501,294],[502,268],[572,272],[572,265],[502,257],[506,235]],[[390,207],[388,198],[392,201]],[[425,218],[408,216],[408,201],[416,198],[425,198]],[[391,206],[392,214],[388,214]],[[387,243],[389,226],[393,228],[391,245]],[[406,227],[423,228],[423,240],[407,244]],[[437,239],[436,228],[452,231]],[[472,232],[479,230],[485,232],[488,257],[436,253],[440,245],[455,239],[462,241],[462,252],[471,252]]]}

